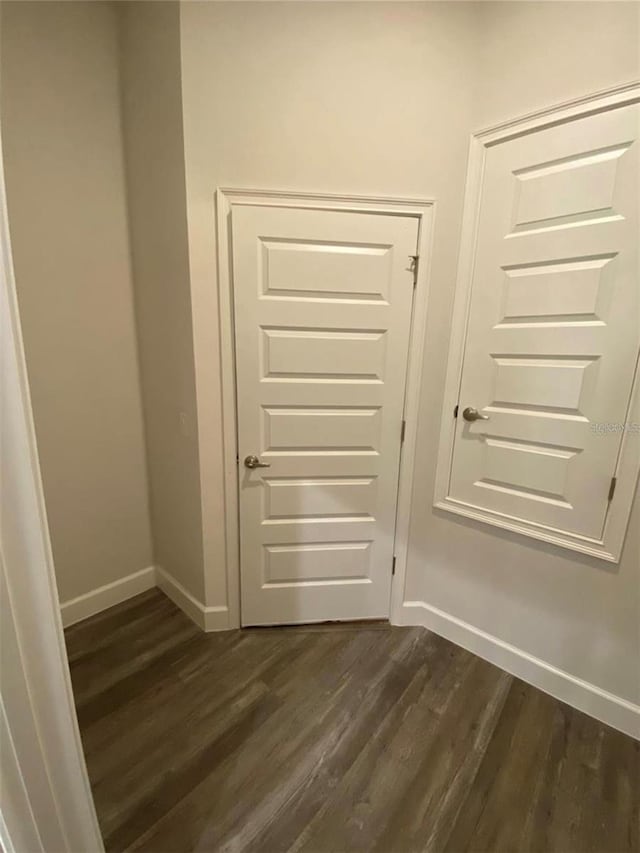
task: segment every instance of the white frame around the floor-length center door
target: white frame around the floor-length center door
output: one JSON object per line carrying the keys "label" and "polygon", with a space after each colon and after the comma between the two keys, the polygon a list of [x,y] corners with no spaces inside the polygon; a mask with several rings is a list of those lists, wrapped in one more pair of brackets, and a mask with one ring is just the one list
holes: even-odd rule
{"label": "white frame around the floor-length center door", "polygon": [[[233,266],[231,254],[231,211],[234,205],[293,207],[311,210],[366,211],[418,219],[417,284],[413,300],[409,358],[407,363],[404,418],[405,440],[400,458],[395,532],[395,575],[391,584],[390,620],[396,622],[402,610],[409,537],[409,510],[413,487],[418,405],[429,296],[435,201],[368,196],[323,195],[219,188],[217,196],[218,299],[220,355],[222,367],[222,419],[224,453],[225,551],[229,628],[240,626],[240,503],[238,494],[238,430],[236,416],[236,367],[233,320]],[[205,522],[210,523],[210,522]]]}

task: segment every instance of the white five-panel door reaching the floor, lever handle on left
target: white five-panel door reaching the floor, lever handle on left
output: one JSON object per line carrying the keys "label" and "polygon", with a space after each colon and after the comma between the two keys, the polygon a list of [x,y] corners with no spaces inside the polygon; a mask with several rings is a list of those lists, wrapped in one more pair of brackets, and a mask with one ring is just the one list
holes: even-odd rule
{"label": "white five-panel door reaching the floor, lever handle on left", "polygon": [[233,208],[244,625],[389,615],[417,236]]}

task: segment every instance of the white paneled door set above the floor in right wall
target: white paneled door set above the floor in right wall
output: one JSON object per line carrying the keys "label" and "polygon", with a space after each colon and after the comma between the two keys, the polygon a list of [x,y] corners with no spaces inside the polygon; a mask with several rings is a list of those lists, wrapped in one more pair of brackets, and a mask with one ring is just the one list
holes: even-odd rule
{"label": "white paneled door set above the floor in right wall", "polygon": [[602,536],[640,339],[638,129],[632,105],[487,150],[449,484],[461,504]]}

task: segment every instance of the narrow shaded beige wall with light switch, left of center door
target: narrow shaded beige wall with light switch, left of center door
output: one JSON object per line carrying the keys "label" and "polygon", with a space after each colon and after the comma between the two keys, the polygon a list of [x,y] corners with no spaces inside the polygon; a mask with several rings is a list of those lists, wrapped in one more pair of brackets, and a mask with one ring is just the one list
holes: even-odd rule
{"label": "narrow shaded beige wall with light switch, left of center door", "polygon": [[204,601],[177,3],[122,3],[121,74],[156,562]]}

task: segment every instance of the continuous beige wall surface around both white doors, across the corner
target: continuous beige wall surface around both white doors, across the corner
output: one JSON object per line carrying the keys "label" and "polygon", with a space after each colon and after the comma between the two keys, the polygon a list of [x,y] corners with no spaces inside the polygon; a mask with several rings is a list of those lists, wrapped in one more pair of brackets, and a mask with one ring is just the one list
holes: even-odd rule
{"label": "continuous beige wall surface around both white doors, across the corner", "polygon": [[[187,3],[189,248],[206,518],[221,518],[216,186],[437,199],[406,598],[637,701],[638,501],[619,567],[431,509],[471,130],[637,76],[635,4]],[[198,323],[206,315],[208,325]],[[633,521],[632,521],[633,525]],[[224,539],[205,549],[224,604]]]}

